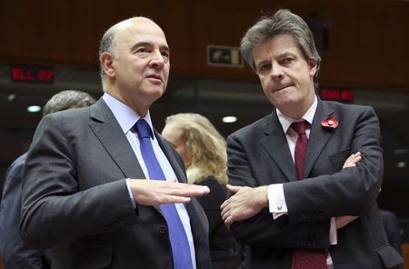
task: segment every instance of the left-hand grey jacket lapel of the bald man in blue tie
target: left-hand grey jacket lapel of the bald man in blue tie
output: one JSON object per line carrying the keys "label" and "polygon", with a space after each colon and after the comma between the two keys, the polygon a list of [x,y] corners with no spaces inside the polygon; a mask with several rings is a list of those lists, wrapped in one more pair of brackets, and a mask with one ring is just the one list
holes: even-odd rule
{"label": "left-hand grey jacket lapel of the bald man in blue tie", "polygon": [[90,107],[90,116],[93,119],[91,129],[125,177],[145,178],[121,126],[102,98]]}

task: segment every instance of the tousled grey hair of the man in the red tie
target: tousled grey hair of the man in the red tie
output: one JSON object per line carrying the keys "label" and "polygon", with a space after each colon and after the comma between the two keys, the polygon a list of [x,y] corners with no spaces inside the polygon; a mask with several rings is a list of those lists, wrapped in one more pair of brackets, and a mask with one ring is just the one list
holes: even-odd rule
{"label": "tousled grey hair of the man in the red tie", "polygon": [[255,47],[276,35],[283,34],[293,36],[294,42],[299,46],[306,60],[314,60],[316,64],[314,87],[318,89],[317,77],[321,57],[315,47],[314,35],[300,16],[294,15],[287,9],[280,9],[273,16],[263,16],[250,27],[240,42],[240,52],[247,64],[256,72],[253,59]]}

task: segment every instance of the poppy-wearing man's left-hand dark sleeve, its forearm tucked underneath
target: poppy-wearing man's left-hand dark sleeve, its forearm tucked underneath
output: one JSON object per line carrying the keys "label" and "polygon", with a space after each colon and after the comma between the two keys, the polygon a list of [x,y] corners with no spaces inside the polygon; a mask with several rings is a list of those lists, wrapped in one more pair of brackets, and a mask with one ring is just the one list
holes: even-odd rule
{"label": "poppy-wearing man's left-hand dark sleeve, its forearm tucked underneath", "polygon": [[[235,136],[227,138],[229,183],[256,187],[254,169],[248,161],[241,139]],[[329,220],[293,224],[288,215],[274,220],[265,208],[254,217],[232,224],[232,232],[241,244],[269,245],[278,247],[320,247],[329,245]]]}

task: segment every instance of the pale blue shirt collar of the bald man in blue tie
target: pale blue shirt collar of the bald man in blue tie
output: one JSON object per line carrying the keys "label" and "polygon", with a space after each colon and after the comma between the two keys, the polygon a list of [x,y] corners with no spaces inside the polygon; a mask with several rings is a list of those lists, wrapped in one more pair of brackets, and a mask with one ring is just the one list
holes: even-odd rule
{"label": "pale blue shirt collar of the bald man in blue tie", "polygon": [[[118,124],[121,126],[124,134],[129,132],[129,130],[131,130],[131,128],[141,118],[141,116],[137,115],[137,113],[135,113],[135,111],[132,110],[131,107],[125,105],[124,103],[116,99],[113,95],[105,93],[103,95],[103,99],[106,105],[108,105],[109,109],[111,109],[112,113],[115,115],[116,121],[118,121]],[[151,128],[152,134],[154,134],[151,115],[149,114],[149,111],[146,113],[144,119]]]}

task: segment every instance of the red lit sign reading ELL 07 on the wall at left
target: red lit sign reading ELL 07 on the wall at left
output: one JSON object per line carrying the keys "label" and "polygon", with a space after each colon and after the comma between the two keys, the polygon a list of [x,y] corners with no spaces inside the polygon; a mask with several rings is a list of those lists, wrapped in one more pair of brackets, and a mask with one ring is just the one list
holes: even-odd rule
{"label": "red lit sign reading ELL 07 on the wall at left", "polygon": [[10,67],[10,79],[13,82],[53,84],[53,67],[14,65]]}

